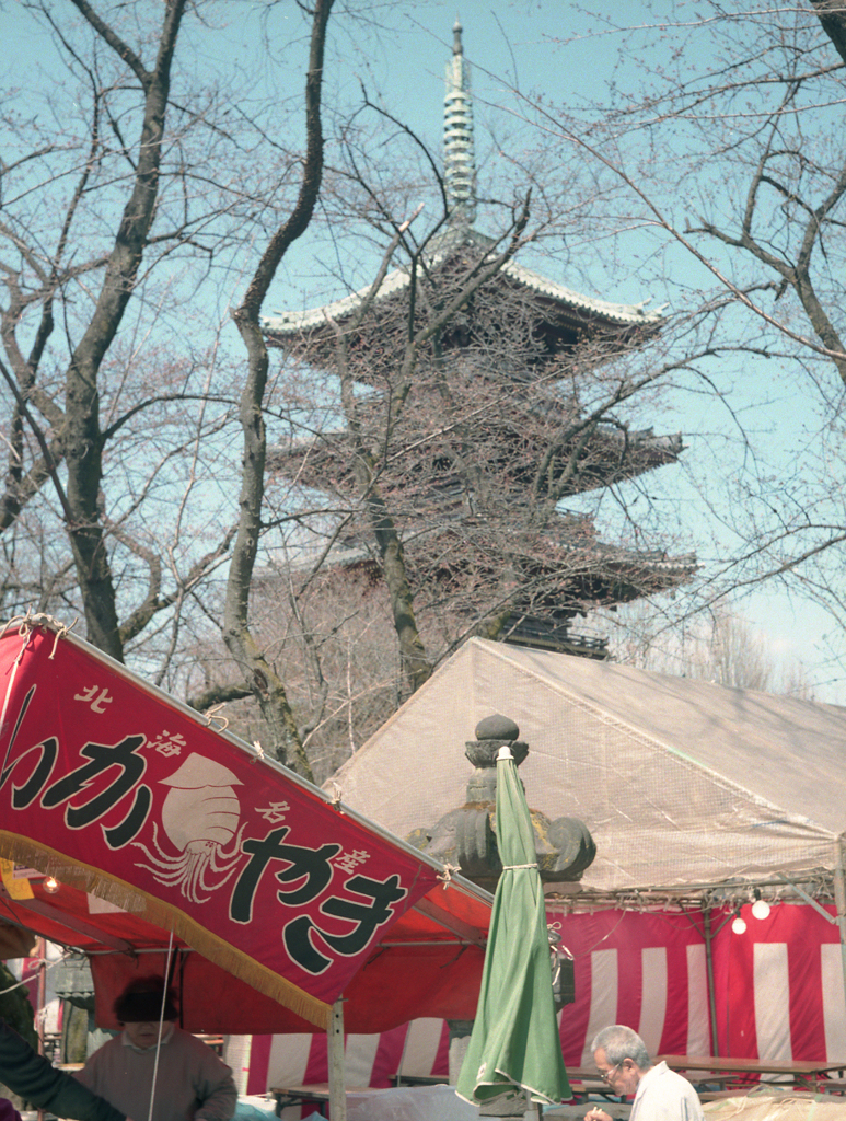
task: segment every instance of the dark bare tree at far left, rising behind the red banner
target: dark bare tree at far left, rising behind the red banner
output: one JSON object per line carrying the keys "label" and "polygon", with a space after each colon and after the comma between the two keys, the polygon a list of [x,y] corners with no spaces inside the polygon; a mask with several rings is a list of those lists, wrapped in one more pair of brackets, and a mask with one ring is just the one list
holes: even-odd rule
{"label": "dark bare tree at far left, rising behind the red banner", "polygon": [[[101,390],[100,368],[123,319],[123,314],[137,282],[138,270],[150,233],[156,202],[159,194],[161,152],[165,135],[165,117],[170,87],[170,67],[184,15],[184,0],[169,0],[164,9],[164,19],[154,59],[145,63],[120,34],[101,19],[86,2],[77,0],[76,8],[89,22],[97,38],[121,61],[139,90],[139,130],[134,143],[137,160],[134,174],[127,193],[123,212],[119,219],[111,247],[96,262],[71,265],[66,256],[67,241],[97,160],[101,156],[101,117],[109,119],[109,99],[100,89],[94,89],[91,99],[90,148],[77,172],[77,183],[66,206],[65,219],[54,243],[53,253],[43,260],[40,247],[25,240],[15,225],[3,231],[8,241],[28,266],[29,277],[35,279],[36,295],[21,284],[21,269],[7,267],[9,303],[3,309],[3,341],[12,364],[13,374],[6,372],[7,382],[15,395],[15,416],[11,425],[10,481],[12,487],[4,500],[4,522],[20,508],[26,492],[49,474],[62,503],[68,540],[73,550],[76,578],[82,593],[89,633],[92,641],[121,659],[123,646],[115,609],[115,593],[106,552],[103,529],[97,510],[103,478],[102,450],[103,430],[100,424]],[[49,12],[45,11],[47,18]],[[94,74],[90,72],[92,86]],[[112,89],[109,92],[114,92]],[[35,158],[35,152],[31,157]],[[66,365],[64,385],[64,408],[55,399],[39,391],[35,377],[44,354],[44,348],[53,332],[53,308],[56,290],[77,275],[100,274],[99,290],[92,294],[87,322],[81,330],[78,340],[71,342],[69,360]],[[96,280],[95,280],[96,282]],[[18,345],[18,327],[27,305],[35,304],[40,314],[35,332],[35,341],[25,356]],[[22,425],[28,413],[28,401],[39,402],[44,416],[54,429],[53,447],[41,435],[41,456],[24,481]],[[59,482],[56,466],[62,460],[67,476]],[[17,484],[17,485],[15,485]]]}

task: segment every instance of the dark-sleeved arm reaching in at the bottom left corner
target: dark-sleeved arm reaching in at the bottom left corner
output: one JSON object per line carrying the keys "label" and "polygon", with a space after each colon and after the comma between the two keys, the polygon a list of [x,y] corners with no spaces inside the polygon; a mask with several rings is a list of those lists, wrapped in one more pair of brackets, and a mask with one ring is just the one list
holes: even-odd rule
{"label": "dark-sleeved arm reaching in at the bottom left corner", "polygon": [[127,1121],[125,1113],[53,1066],[0,1019],[0,1082],[36,1109],[74,1121]]}

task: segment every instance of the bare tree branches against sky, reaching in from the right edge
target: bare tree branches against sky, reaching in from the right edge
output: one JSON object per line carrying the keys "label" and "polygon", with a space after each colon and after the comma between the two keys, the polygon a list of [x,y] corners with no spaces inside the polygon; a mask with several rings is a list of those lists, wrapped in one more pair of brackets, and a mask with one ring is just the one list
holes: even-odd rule
{"label": "bare tree branches against sky, reaching in from the right edge", "polygon": [[[688,464],[718,545],[686,610],[774,581],[822,603],[843,633],[846,12],[808,0],[656,13],[638,27],[596,13],[597,31],[625,43],[608,102],[578,114],[523,98],[518,112],[601,184],[594,221],[616,230],[619,254],[658,263],[647,282],[672,302],[664,339],[684,326],[679,362],[691,326],[697,346],[709,339],[689,352],[689,388],[717,391],[735,447]],[[801,398],[807,430],[788,408],[779,430],[756,430],[777,393]]]}

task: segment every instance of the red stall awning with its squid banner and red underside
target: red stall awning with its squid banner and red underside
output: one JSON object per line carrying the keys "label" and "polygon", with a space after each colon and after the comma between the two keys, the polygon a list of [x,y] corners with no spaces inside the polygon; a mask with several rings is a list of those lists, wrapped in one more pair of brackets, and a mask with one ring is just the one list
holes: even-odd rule
{"label": "red stall awning with its squid banner and red underside", "polygon": [[2,918],[92,955],[102,1026],[171,936],[190,1030],[472,1015],[486,892],[66,633],[7,631],[0,696],[0,855],[59,884]]}

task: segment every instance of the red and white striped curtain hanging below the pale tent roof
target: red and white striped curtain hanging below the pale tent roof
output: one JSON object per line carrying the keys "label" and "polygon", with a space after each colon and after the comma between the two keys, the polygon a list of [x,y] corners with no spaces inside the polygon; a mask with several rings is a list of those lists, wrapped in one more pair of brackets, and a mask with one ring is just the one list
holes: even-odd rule
{"label": "red and white striped curtain hanging below the pale tent roof", "polygon": [[[763,920],[749,910],[742,935],[732,930],[731,911],[712,919],[719,1054],[846,1062],[837,926],[808,905],[775,906]],[[560,1013],[568,1066],[592,1064],[593,1037],[608,1023],[633,1027],[653,1055],[712,1054],[701,912],[550,912],[549,921],[575,960],[576,1001]],[[388,1086],[400,1071],[446,1075],[447,1063],[443,1020],[346,1039],[347,1086]],[[250,1093],[327,1077],[325,1035],[253,1037]]]}

